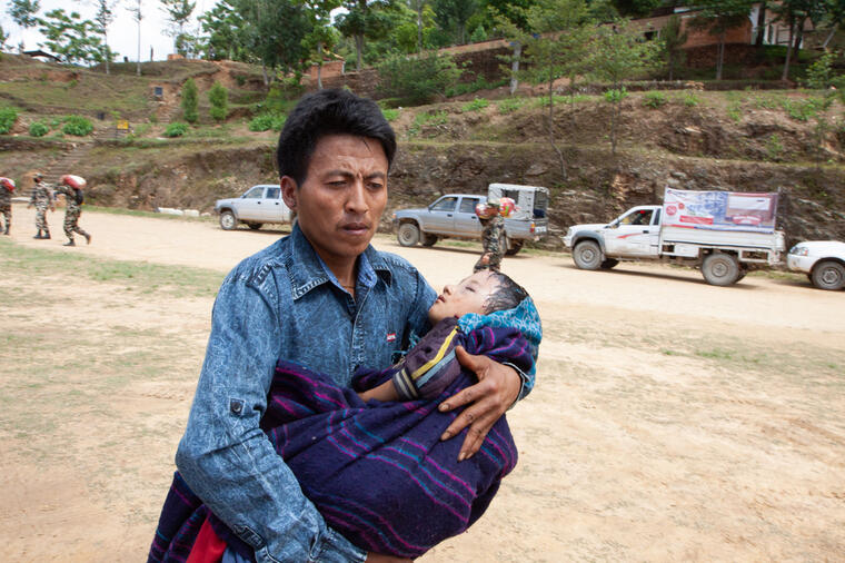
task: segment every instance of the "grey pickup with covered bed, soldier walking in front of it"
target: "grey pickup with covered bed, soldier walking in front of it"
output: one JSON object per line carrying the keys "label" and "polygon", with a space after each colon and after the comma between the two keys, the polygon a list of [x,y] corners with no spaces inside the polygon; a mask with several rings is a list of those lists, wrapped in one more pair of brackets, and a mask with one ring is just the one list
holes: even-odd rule
{"label": "grey pickup with covered bed, soldier walking in front of it", "polygon": [[401,209],[394,214],[396,237],[402,246],[433,246],[440,238],[481,238],[481,224],[476,205],[487,197],[509,197],[517,209],[505,219],[505,248],[509,256],[517,254],[526,240],[538,240],[548,231],[548,188],[490,184],[487,196],[447,194],[425,208]]}

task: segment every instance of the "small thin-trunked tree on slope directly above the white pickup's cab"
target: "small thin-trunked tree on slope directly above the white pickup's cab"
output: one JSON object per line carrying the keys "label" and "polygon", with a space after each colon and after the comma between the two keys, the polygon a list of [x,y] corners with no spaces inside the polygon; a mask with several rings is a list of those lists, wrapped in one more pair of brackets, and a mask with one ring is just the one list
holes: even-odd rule
{"label": "small thin-trunked tree on slope directly above the white pickup's cab", "polygon": [[630,26],[628,20],[618,20],[613,26],[598,29],[590,56],[587,59],[590,75],[609,83],[605,98],[613,105],[610,110],[610,147],[616,155],[616,138],[622,100],[625,98],[625,80],[654,69],[659,60],[660,41],[646,41],[642,30]]}

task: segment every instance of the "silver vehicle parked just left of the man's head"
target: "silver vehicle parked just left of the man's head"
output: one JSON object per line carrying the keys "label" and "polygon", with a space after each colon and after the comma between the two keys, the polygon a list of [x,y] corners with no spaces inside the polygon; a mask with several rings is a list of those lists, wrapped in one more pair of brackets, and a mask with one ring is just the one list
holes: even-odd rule
{"label": "silver vehicle parked just left of the man's head", "polygon": [[220,214],[223,230],[238,228],[239,223],[250,229],[260,229],[265,224],[291,223],[294,214],[281,199],[278,184],[252,186],[238,198],[218,199],[215,211]]}

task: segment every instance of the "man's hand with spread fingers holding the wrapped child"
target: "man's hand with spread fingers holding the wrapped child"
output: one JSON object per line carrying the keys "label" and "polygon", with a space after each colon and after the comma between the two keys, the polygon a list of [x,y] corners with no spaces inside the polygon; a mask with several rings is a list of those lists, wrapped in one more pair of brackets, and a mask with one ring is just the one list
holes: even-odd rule
{"label": "man's hand with spread fingers holding the wrapped child", "polygon": [[[460,365],[475,372],[478,383],[440,403],[441,412],[469,405],[455,418],[440,439],[449,439],[469,426],[458,461],[463,462],[481,448],[484,438],[496,421],[514,404],[519,395],[520,379],[516,369],[494,362],[487,356],[475,356],[461,346],[455,348]],[[471,404],[470,404],[471,403]]]}

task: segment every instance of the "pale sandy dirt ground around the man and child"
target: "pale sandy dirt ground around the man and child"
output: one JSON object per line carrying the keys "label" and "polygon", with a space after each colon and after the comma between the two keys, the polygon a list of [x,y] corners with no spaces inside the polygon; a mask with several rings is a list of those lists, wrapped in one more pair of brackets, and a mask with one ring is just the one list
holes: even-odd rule
{"label": "pale sandy dirt ground around the man and child", "polygon": [[[91,246],[220,278],[280,231],[84,213]],[[477,247],[381,250],[435,287]],[[845,561],[845,292],[801,276],[712,287],[697,271],[508,257],[544,322],[537,387],[508,413],[519,464],[447,561]],[[0,559],[141,561],[208,337],[213,295],[0,266]],[[11,271],[11,273],[10,273]],[[178,285],[178,284],[177,284]],[[170,287],[170,286],[168,286]],[[172,289],[172,290],[171,290]]]}

